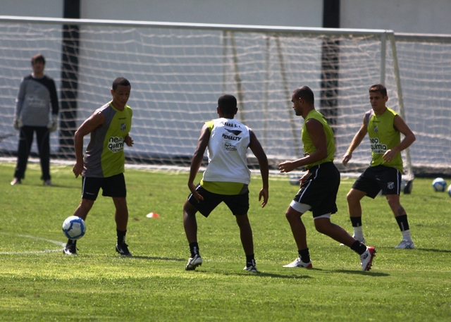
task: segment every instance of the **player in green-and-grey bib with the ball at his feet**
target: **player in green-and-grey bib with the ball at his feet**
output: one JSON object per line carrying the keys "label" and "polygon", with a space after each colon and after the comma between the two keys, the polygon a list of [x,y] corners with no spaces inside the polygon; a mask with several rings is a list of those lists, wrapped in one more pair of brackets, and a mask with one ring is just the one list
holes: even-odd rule
{"label": "player in green-and-grey bib with the ball at his feet", "polygon": [[[122,256],[132,256],[125,244],[127,233],[128,207],[125,187],[124,146],[132,147],[133,140],[128,135],[132,127],[132,109],[127,105],[130,97],[130,82],[125,78],[113,81],[113,99],[92,113],[75,132],[74,145],[76,162],[73,166],[75,178],[82,175],[82,201],[73,213],[86,220],[87,213],[94,205],[100,188],[102,195],[112,197],[116,207],[115,221],[118,240],[116,252]],[[83,137],[91,135],[83,157]],[[76,255],[76,240],[68,240],[63,253]]]}

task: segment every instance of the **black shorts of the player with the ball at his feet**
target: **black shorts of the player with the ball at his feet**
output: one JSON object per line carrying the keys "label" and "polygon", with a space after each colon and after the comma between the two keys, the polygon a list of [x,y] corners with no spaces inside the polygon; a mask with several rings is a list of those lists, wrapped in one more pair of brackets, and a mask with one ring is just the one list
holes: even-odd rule
{"label": "black shorts of the player with the ball at his feet", "polygon": [[100,188],[104,197],[127,197],[123,173],[108,178],[82,177],[82,199],[97,199]]}

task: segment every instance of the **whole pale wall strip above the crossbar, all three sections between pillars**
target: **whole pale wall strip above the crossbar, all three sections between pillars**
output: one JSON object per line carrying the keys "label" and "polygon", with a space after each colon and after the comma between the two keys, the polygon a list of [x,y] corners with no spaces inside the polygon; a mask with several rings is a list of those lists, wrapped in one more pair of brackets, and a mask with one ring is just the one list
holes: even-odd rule
{"label": "whole pale wall strip above the crossbar, all three sections between pillars", "polygon": [[[63,0],[0,1],[1,16],[63,16]],[[81,0],[81,4],[81,18],[85,19],[323,25],[322,0]],[[450,0],[341,0],[340,6],[342,28],[451,34]]]}

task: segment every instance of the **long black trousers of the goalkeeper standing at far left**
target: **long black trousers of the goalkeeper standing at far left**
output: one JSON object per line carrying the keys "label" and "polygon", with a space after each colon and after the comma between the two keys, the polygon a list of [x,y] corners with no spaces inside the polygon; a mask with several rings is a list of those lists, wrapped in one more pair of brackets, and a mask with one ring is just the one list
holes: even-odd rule
{"label": "long black trousers of the goalkeeper standing at far left", "polygon": [[14,178],[25,178],[28,156],[36,132],[37,150],[41,160],[42,180],[50,180],[50,130],[47,126],[23,126],[20,128],[18,158]]}

